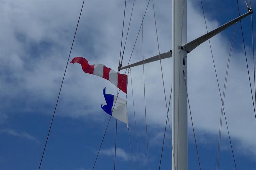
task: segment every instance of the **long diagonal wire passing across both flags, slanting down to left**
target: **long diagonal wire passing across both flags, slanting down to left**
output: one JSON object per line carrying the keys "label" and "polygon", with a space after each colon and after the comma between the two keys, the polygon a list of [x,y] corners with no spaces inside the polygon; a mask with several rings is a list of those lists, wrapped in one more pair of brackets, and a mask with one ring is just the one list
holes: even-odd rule
{"label": "long diagonal wire passing across both flags, slanting down to left", "polygon": [[[150,0],[148,0],[148,4],[149,4],[149,1],[150,1]],[[144,13],[144,16],[143,16],[142,22],[143,22],[143,20],[144,20],[145,15],[146,15],[147,9],[148,9],[148,5],[147,5],[146,11],[145,11],[145,13]],[[141,24],[140,24],[140,28],[141,28],[142,22],[141,22]],[[140,29],[139,29],[139,32],[138,32],[138,34],[137,34],[137,37],[136,37],[136,40],[135,40],[135,43],[134,43],[134,46],[133,46],[133,49],[132,49],[132,53],[133,53],[133,50],[134,50],[134,48],[135,48],[135,45],[136,45],[136,42],[137,42],[137,39],[138,39],[139,33],[140,33]],[[130,56],[130,59],[129,59],[129,61],[128,61],[128,64],[127,64],[127,65],[129,65],[129,63],[130,63],[130,60],[131,60],[131,58],[132,58],[132,53],[131,53],[131,56]],[[124,74],[126,73],[126,71],[127,71],[127,68],[125,69]],[[123,77],[123,79],[122,79],[122,82],[121,82],[121,85],[120,85],[120,86],[122,86],[123,81],[124,81],[124,77]],[[120,92],[120,89],[118,89],[117,97],[118,97],[118,95],[119,95],[119,92]],[[117,99],[117,98],[116,98],[116,99]],[[115,105],[116,105],[116,101],[115,101],[115,103],[114,103],[113,108],[115,107]],[[112,112],[113,112],[113,110],[112,110]],[[112,115],[112,112],[111,112],[111,115]],[[110,117],[109,117],[108,124],[109,124],[109,121],[110,121],[110,119],[111,119],[111,115],[110,115]],[[103,138],[102,138],[102,141],[101,141],[101,144],[100,144],[100,148],[101,148],[102,142],[103,142],[103,140],[104,140],[104,137],[105,137],[106,131],[107,131],[107,129],[108,129],[108,124],[107,124],[106,130],[105,130],[105,132],[104,132],[104,135],[103,135]],[[97,153],[96,159],[95,159],[95,161],[94,161],[94,165],[93,165],[92,170],[94,169],[94,166],[95,166],[95,164],[96,164],[96,161],[97,161],[97,158],[98,158],[98,155],[99,155],[99,152],[100,152],[100,148],[99,148],[99,151],[98,151],[98,153]]]}

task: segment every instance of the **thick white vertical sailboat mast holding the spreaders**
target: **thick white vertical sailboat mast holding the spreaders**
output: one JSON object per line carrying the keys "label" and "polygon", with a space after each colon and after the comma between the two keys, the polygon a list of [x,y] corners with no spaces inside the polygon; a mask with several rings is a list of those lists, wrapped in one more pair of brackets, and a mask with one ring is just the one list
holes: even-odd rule
{"label": "thick white vertical sailboat mast holding the spreaders", "polygon": [[[187,76],[187,1],[172,1],[172,170],[188,169],[188,110],[184,75]],[[187,78],[186,78],[187,79]]]}

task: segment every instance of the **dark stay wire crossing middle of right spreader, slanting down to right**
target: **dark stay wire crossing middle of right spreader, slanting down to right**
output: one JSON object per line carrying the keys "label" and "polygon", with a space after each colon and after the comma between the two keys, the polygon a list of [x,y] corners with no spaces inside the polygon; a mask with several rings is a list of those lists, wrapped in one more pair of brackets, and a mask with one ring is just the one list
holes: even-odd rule
{"label": "dark stay wire crossing middle of right spreader, slanting down to right", "polygon": [[[204,14],[203,3],[202,3],[202,0],[200,0],[200,1],[201,1],[201,5],[202,5],[203,14]],[[204,22],[205,22],[206,31],[208,33],[205,15],[204,15]],[[212,54],[212,46],[211,46],[210,39],[208,41],[209,41],[209,45],[210,45],[210,49],[211,49],[211,54]],[[217,76],[217,71],[216,71],[216,67],[215,67],[215,63],[214,63],[214,59],[213,59],[213,54],[212,54],[212,62],[213,62],[213,66],[214,66],[214,71],[215,71],[215,76],[216,76],[216,80],[217,80],[217,84],[218,84],[219,93],[220,93],[221,106],[223,107],[223,113],[224,113],[224,117],[225,117],[225,121],[226,121],[226,126],[227,126],[227,130],[228,130],[228,123],[227,123],[226,114],[225,114],[225,110],[224,110],[224,106],[223,106],[223,101],[222,101],[222,97],[221,97],[220,84],[219,84],[219,80],[218,80],[218,76]],[[231,144],[229,130],[228,130],[228,138],[229,138],[229,143],[230,143],[230,146],[231,146],[231,151],[232,151],[232,155],[233,155],[233,159],[234,159],[234,164],[235,164],[235,167],[236,167],[236,161],[235,161],[235,156],[234,156],[234,152],[233,152],[233,147],[232,147],[232,144]]]}

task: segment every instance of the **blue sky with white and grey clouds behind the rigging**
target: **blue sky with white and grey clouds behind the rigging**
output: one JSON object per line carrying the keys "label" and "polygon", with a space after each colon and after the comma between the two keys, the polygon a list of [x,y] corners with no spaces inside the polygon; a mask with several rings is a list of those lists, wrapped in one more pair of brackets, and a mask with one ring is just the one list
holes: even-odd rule
{"label": "blue sky with white and grey clouds behind the rigging", "polygon": [[[252,1],[252,9],[255,2]],[[81,0],[0,1],[0,169],[38,169],[82,3]],[[124,38],[132,3],[129,0],[126,4]],[[143,13],[147,3],[143,1]],[[154,5],[159,48],[163,53],[172,48],[172,1],[157,0]],[[203,0],[203,6],[208,31],[238,17],[236,1]],[[243,0],[239,0],[239,8],[241,14],[247,12]],[[188,1],[187,9],[189,42],[206,33],[206,28],[200,1]],[[90,64],[102,63],[117,70],[123,15],[124,1],[86,0],[69,61],[82,56]],[[123,65],[129,61],[140,24],[141,1],[135,1]],[[250,16],[242,20],[242,27],[254,87]],[[210,39],[221,92],[234,28],[231,26]],[[256,120],[241,34],[238,23],[224,108],[237,169],[256,169]],[[254,39],[255,35],[254,30]],[[152,1],[143,21],[143,39],[145,58],[157,55]],[[130,63],[141,59],[140,32]],[[162,60],[162,67],[169,99],[172,58]],[[134,67],[131,72],[140,166],[147,169],[143,67]],[[127,113],[133,164],[139,169],[130,73]],[[200,164],[202,169],[216,169],[221,100],[208,41],[188,54],[187,82]],[[104,87],[106,93],[116,94],[116,87],[107,80],[84,73],[79,64],[68,64],[41,169],[92,169],[109,119],[100,108],[105,102]],[[159,61],[145,64],[145,94],[149,168],[158,169],[166,120]],[[119,97],[125,99],[126,95],[120,92]],[[95,169],[114,167],[115,123],[111,118]],[[235,169],[224,122],[221,134],[219,169]],[[167,126],[161,169],[171,169],[171,156]],[[126,124],[119,121],[116,169],[132,169]],[[199,169],[189,115],[188,169]]]}

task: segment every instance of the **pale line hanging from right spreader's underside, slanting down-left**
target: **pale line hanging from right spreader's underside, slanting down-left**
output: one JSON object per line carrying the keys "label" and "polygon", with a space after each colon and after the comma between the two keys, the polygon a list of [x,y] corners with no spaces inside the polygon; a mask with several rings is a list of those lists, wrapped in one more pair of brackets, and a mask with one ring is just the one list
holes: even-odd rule
{"label": "pale line hanging from right spreader's underside, slanting down-left", "polygon": [[[223,105],[224,105],[224,100],[225,100],[226,86],[227,86],[227,81],[228,81],[229,63],[230,63],[230,59],[231,59],[231,53],[232,53],[232,48],[233,48],[233,43],[234,43],[234,38],[235,38],[235,33],[236,33],[236,27],[237,27],[237,23],[235,25],[234,32],[233,32],[233,35],[232,35],[231,46],[230,46],[229,55],[228,55],[228,63],[227,63],[227,69],[226,69],[226,75],[225,75],[225,81],[224,81],[224,88],[223,88],[223,93],[222,93]],[[223,118],[223,108],[221,107],[218,154],[217,154],[217,169],[219,169],[219,159],[220,159],[220,138],[221,138],[221,129],[222,129],[222,118]]]}

